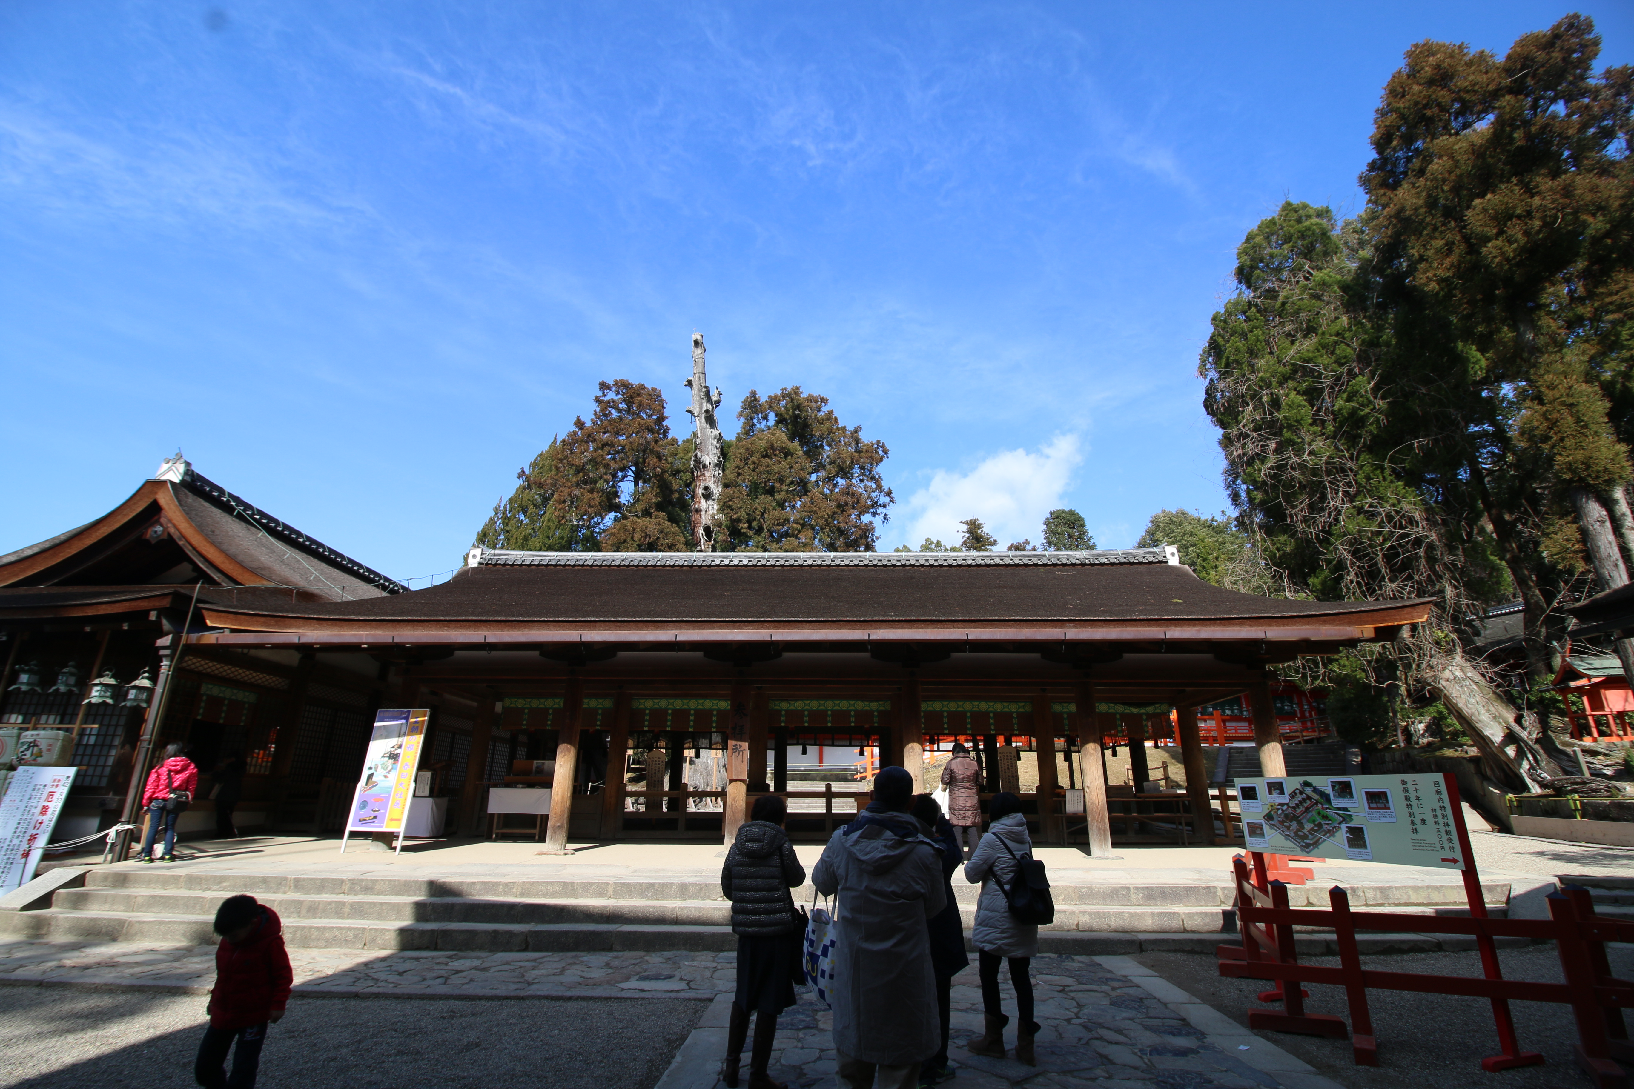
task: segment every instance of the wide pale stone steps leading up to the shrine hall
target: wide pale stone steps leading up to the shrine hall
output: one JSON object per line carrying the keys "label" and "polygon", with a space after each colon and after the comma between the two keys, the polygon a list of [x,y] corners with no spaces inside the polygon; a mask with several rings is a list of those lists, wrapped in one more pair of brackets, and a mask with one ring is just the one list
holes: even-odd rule
{"label": "wide pale stone steps leading up to the shrine hall", "polygon": [[[954,885],[966,931],[975,916],[977,891],[975,885]],[[1067,882],[1052,891],[1056,922],[1039,932],[1042,952],[1212,952],[1222,940],[1234,942],[1235,913],[1226,883]],[[1489,909],[1503,914],[1510,887],[1487,883],[1484,891]],[[49,906],[0,913],[0,940],[209,944],[216,906],[234,893],[250,893],[278,911],[284,939],[294,947],[588,952],[737,945],[729,905],[712,878],[426,880],[191,870],[186,864],[124,864],[77,873],[69,887],[56,890]],[[1320,882],[1289,893],[1294,906],[1327,906],[1327,885]],[[810,885],[796,890],[797,903],[810,900]],[[1413,914],[1467,913],[1458,883],[1359,885],[1351,890],[1351,903],[1358,909],[1400,911],[1407,934]],[[1438,947],[1433,939],[1412,937],[1425,949]],[[1369,940],[1394,949],[1407,939]]]}

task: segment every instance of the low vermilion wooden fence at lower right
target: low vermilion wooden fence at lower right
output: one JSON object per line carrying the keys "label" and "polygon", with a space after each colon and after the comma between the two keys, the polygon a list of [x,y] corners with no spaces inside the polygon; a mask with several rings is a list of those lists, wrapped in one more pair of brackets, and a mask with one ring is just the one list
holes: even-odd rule
{"label": "low vermilion wooden fence at lower right", "polygon": [[[1549,896],[1547,919],[1490,919],[1479,898],[1472,898],[1472,918],[1410,916],[1410,926],[1420,934],[1466,934],[1480,949],[1484,975],[1443,976],[1412,971],[1377,971],[1361,967],[1356,945],[1359,931],[1400,932],[1409,922],[1400,914],[1379,911],[1351,911],[1345,890],[1328,891],[1328,909],[1289,908],[1288,887],[1268,880],[1263,856],[1255,856],[1255,869],[1239,857],[1234,860],[1237,877],[1237,924],[1242,945],[1221,945],[1219,971],[1222,976],[1275,980],[1278,988],[1260,994],[1261,1002],[1281,1002],[1281,1009],[1248,1011],[1250,1029],[1276,1032],[1301,1032],[1335,1038],[1350,1037],[1351,1053],[1358,1065],[1377,1066],[1379,1045],[1373,1032],[1368,1009],[1368,989],[1417,991],[1422,994],[1462,994],[1492,1001],[1493,1024],[1498,1033],[1500,1053],[1480,1061],[1489,1071],[1542,1063],[1536,1051],[1523,1051],[1510,1017],[1510,999],[1531,1002],[1564,1002],[1572,1007],[1577,1020],[1577,1063],[1598,1089],[1626,1089],[1627,1074],[1619,1063],[1634,1063],[1634,1045],[1629,1043],[1623,1011],[1634,1006],[1634,983],[1611,975],[1606,960],[1606,942],[1634,942],[1634,922],[1605,919],[1595,914],[1588,890],[1567,887]],[[1477,911],[1479,908],[1479,911]],[[1317,967],[1299,963],[1294,953],[1294,927],[1332,927],[1340,965]],[[1498,937],[1525,937],[1533,942],[1554,942],[1560,957],[1565,983],[1538,983],[1531,980],[1505,980],[1498,968]],[[1302,983],[1330,983],[1345,988],[1350,1007],[1350,1025],[1330,1014],[1307,1014],[1304,999],[1309,994]]]}

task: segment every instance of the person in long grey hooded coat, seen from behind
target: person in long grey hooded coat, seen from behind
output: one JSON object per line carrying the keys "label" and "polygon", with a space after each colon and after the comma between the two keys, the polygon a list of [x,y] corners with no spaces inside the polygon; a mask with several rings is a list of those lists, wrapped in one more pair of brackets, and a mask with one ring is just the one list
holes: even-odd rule
{"label": "person in long grey hooded coat, seen from behind", "polygon": [[946,895],[941,851],[909,811],[913,777],[874,776],[873,803],[828,841],[817,891],[838,893],[833,1047],[850,1089],[912,1089],[941,1042],[926,919]]}

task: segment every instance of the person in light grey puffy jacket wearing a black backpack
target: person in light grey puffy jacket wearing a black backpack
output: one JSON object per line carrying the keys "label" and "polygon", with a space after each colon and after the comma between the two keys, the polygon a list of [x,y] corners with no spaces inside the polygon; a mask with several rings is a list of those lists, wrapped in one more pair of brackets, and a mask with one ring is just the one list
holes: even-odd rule
{"label": "person in light grey puffy jacket wearing a black backpack", "polygon": [[[971,944],[977,949],[977,967],[982,978],[982,1020],[985,1032],[966,1043],[971,1055],[1005,1056],[1005,1017],[998,998],[998,965],[1010,962],[1010,983],[1016,991],[1016,1060],[1036,1066],[1033,1037],[1038,1022],[1033,1020],[1033,976],[1029,962],[1038,957],[1038,926],[1021,922],[1010,914],[1008,890],[1020,877],[1018,857],[1033,851],[1026,834],[1026,816],[1021,798],[1008,790],[995,793],[987,811],[992,825],[975,846],[971,860],[964,864],[964,880],[982,882],[975,901],[975,926],[971,927]],[[1008,847],[1008,849],[1007,849]]]}

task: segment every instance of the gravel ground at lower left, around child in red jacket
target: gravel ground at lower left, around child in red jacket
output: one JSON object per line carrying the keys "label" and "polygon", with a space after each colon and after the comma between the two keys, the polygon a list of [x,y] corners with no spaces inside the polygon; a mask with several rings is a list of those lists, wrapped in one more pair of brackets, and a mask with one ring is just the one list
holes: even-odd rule
{"label": "gravel ground at lower left, around child in red jacket", "polygon": [[[650,1089],[708,1002],[301,999],[266,1033],[260,1089]],[[0,1086],[193,1084],[204,999],[0,988]]]}

